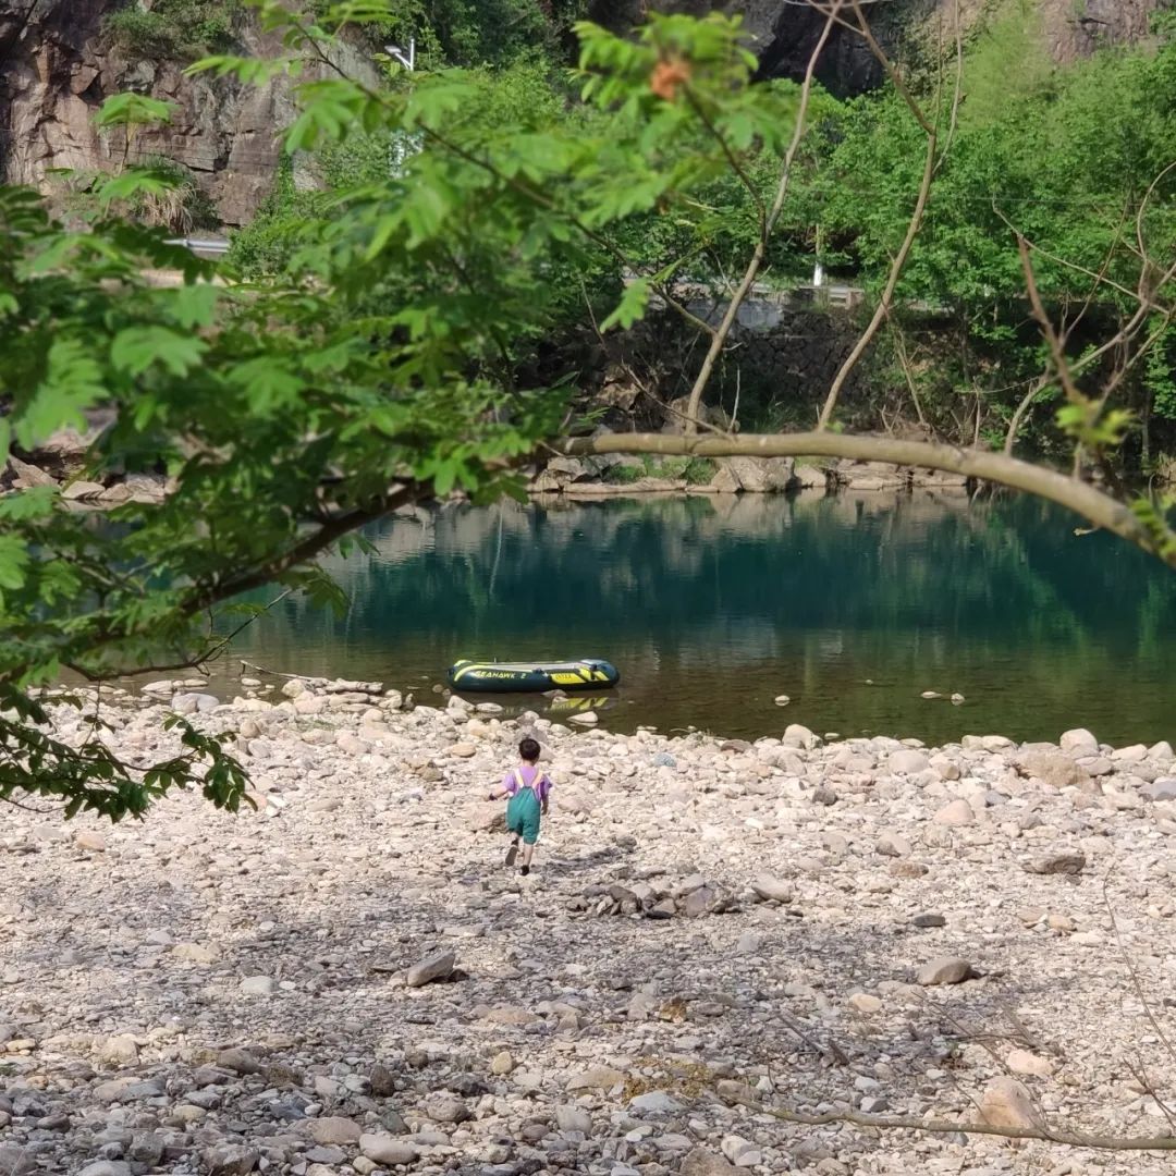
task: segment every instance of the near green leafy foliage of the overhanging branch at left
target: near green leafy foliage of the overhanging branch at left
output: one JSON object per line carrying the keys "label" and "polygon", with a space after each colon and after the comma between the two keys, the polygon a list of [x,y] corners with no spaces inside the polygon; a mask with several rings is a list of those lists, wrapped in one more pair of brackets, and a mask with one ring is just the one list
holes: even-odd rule
{"label": "near green leafy foliage of the overhanging branch at left", "polygon": [[[290,52],[321,52],[300,19],[268,4],[261,16]],[[719,91],[740,61],[735,31],[707,34],[728,46],[708,79]],[[586,65],[615,53],[597,36]],[[248,59],[202,68],[258,76]],[[646,92],[644,79],[634,88]],[[609,223],[717,166],[716,149],[680,161],[673,179],[655,174],[654,158],[688,122],[668,103],[630,103],[622,151],[602,128],[573,133],[554,100],[500,94],[488,118],[476,75],[387,91],[318,75],[300,94],[287,148],[323,149],[340,183],[345,161],[394,135],[421,149],[402,175],[360,167],[316,200],[265,281],[213,286],[213,268],[166,245],[166,230],[115,215],[162,191],[156,171],[106,181],[108,212],[79,233],[34,194],[0,189],[5,455],[85,428],[101,408],[112,423],[81,476],[142,473],[169,486],[161,502],[128,501],[101,524],[52,487],[0,500],[0,704],[14,716],[0,728],[2,796],[39,793],[111,816],[175,786],[239,803],[240,769],[219,744],[183,729],[180,757],[139,773],[100,740],[46,734],[31,691],[62,668],[102,679],[199,662],[233,623],[233,601],[266,583],[340,606],[314,556],[355,527],[420,495],[516,493],[513,466],[556,430],[567,397],[560,379],[519,379],[527,340],[560,303],[552,274],[608,253]],[[100,121],[131,133],[166,113],[120,98]],[[650,114],[663,133],[642,139]],[[183,285],[141,276],[160,268]]]}

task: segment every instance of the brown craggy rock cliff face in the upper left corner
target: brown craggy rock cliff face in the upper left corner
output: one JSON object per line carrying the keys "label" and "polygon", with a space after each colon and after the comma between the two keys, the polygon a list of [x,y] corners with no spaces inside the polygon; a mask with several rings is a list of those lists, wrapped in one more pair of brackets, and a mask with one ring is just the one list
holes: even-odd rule
{"label": "brown craggy rock cliff face in the upper left corner", "polygon": [[[0,176],[42,185],[52,168],[121,160],[122,136],[103,138],[93,118],[103,99],[134,89],[178,109],[171,126],[136,136],[132,158],[183,163],[225,223],[243,223],[273,183],[274,135],[290,115],[283,88],[188,79],[178,62],[129,61],[102,36],[102,18],[114,7],[115,0],[0,0]],[[248,29],[242,35],[247,49],[265,48]]]}

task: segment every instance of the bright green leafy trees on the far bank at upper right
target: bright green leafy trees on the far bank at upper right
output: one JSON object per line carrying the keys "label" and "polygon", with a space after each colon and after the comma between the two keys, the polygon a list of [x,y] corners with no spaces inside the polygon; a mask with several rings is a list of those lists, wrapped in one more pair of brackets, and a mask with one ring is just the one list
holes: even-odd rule
{"label": "bright green leafy trees on the far bank at upper right", "polygon": [[[997,12],[965,54],[958,127],[898,296],[940,312],[938,327],[908,325],[922,361],[923,407],[937,427],[969,436],[960,414],[975,416],[964,406],[978,401],[983,432],[1003,441],[1047,359],[1025,301],[1018,234],[1031,242],[1050,314],[1076,323],[1071,362],[1089,387],[1098,386],[1114,362],[1088,362],[1094,341],[1134,313],[1141,279],[1162,273],[1164,259],[1176,252],[1176,172],[1169,169],[1176,160],[1176,46],[1161,38],[1060,69],[1035,44],[1029,9],[1020,0]],[[937,105],[946,136],[948,96]],[[934,106],[934,93],[926,101]],[[835,113],[827,142],[809,188],[840,250],[833,260],[867,286],[877,285],[907,229],[918,186],[918,129],[900,96],[887,91]],[[884,348],[876,359],[886,361]],[[1122,382],[1122,402],[1111,410],[1144,410],[1148,386],[1141,374],[1142,368]],[[895,386],[904,383],[898,375]],[[1037,449],[1068,448],[1073,419],[1058,422],[1035,410],[1058,394],[1057,386],[1043,388],[1025,419],[1022,432]],[[1176,442],[1176,433],[1168,442]]]}

